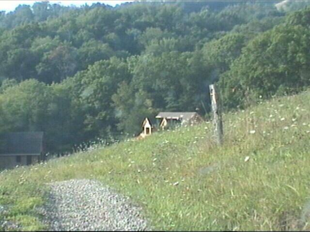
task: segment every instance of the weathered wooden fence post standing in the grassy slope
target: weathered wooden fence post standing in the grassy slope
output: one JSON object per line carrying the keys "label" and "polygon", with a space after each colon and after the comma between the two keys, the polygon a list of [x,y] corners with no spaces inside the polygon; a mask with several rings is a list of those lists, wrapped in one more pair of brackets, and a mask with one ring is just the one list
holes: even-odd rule
{"label": "weathered wooden fence post standing in the grassy slope", "polygon": [[213,111],[213,123],[215,126],[214,134],[217,140],[217,144],[221,145],[223,143],[223,123],[220,99],[218,97],[217,87],[215,84],[209,85],[209,89]]}

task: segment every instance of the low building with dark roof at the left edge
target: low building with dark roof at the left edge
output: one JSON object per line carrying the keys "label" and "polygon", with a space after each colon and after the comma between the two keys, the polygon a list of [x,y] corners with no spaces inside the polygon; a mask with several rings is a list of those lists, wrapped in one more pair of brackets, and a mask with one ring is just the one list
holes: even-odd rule
{"label": "low building with dark roof at the left edge", "polygon": [[43,132],[15,132],[0,135],[0,170],[44,160]]}

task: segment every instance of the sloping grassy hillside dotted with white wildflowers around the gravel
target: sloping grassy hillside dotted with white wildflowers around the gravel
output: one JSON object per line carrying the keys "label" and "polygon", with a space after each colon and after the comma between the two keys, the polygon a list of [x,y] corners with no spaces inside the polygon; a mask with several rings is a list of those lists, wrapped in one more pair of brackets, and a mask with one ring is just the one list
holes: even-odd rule
{"label": "sloping grassy hillside dotted with white wildflowers around the gravel", "polygon": [[155,230],[310,230],[309,102],[306,91],[224,115],[222,147],[204,123],[2,172],[0,220],[45,229],[44,183],[90,178],[139,203]]}

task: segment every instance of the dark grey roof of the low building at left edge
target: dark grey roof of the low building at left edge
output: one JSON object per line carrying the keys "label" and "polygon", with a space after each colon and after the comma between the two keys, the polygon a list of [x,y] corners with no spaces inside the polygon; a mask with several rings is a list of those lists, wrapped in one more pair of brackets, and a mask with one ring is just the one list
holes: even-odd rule
{"label": "dark grey roof of the low building at left edge", "polygon": [[0,154],[40,155],[43,132],[15,132],[0,135]]}

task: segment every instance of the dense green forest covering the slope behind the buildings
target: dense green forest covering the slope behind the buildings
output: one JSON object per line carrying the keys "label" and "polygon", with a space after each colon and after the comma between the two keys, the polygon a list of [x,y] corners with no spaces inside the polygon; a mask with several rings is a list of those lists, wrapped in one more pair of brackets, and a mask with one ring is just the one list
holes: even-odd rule
{"label": "dense green forest covering the slope behind the buildings", "polygon": [[50,152],[137,135],[159,111],[226,110],[310,85],[310,2],[171,1],[0,12],[0,133]]}

